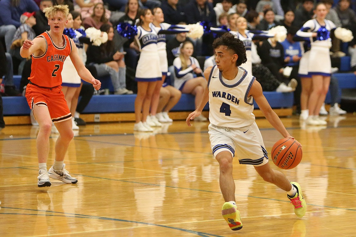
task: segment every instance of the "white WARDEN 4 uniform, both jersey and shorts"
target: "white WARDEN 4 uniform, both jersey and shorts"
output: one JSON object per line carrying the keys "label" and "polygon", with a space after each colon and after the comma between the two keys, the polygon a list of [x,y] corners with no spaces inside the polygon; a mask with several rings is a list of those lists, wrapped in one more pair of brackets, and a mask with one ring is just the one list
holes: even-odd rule
{"label": "white WARDEN 4 uniform, both jersey and shorts", "polygon": [[268,162],[260,130],[248,96],[255,77],[239,67],[235,79],[226,80],[218,67],[211,69],[209,89],[209,137],[214,156],[221,151],[236,155],[240,164],[261,166]]}

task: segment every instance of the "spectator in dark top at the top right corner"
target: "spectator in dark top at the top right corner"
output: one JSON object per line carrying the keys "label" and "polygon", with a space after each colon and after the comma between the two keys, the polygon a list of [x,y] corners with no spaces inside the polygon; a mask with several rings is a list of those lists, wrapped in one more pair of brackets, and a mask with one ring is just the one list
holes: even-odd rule
{"label": "spectator in dark top at the top right corner", "polygon": [[349,53],[353,54],[356,43],[356,14],[350,8],[350,0],[340,0],[339,4],[334,8],[337,16],[341,21],[341,27],[350,29],[354,35],[354,39],[349,42]]}

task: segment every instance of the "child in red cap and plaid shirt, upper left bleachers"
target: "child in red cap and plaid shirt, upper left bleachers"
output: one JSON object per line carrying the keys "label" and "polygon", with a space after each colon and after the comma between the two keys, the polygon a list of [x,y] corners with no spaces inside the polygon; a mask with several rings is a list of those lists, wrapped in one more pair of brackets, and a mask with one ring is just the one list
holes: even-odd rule
{"label": "child in red cap and plaid shirt, upper left bleachers", "polygon": [[34,14],[35,12],[24,12],[21,15],[20,21],[22,25],[17,28],[14,39],[12,40],[10,54],[12,57],[18,59],[21,62],[19,65],[18,74],[22,73],[23,65],[26,61],[26,59],[22,58],[20,55],[20,48],[26,39],[32,41],[36,37],[35,31],[32,29],[32,27],[36,25],[36,18],[33,16]]}

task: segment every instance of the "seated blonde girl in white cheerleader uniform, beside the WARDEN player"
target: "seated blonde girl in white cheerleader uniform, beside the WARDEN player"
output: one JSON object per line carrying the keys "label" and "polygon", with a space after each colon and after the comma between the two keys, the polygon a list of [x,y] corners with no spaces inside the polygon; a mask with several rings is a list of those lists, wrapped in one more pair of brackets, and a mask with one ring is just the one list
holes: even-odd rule
{"label": "seated blonde girl in white cheerleader uniform, beside the WARDEN player", "polygon": [[[192,57],[193,44],[189,41],[183,43],[180,48],[180,55],[174,59],[174,87],[182,93],[192,94],[195,96],[195,108],[198,108],[201,98],[203,97],[206,80],[203,71],[196,58]],[[196,121],[206,121],[204,115],[194,118]]]}

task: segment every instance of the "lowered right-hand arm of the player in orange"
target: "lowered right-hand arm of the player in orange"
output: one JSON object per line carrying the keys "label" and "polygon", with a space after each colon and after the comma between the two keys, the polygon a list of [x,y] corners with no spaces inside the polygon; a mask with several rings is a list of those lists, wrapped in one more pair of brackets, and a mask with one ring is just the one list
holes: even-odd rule
{"label": "lowered right-hand arm of the player in orange", "polygon": [[70,60],[72,60],[75,69],[78,72],[78,75],[84,81],[93,84],[95,90],[99,90],[101,86],[101,82],[95,79],[93,75],[91,75],[90,71],[87,68],[85,68],[82,59],[80,59],[78,55],[77,47],[75,47],[73,39],[70,39],[70,43],[72,44],[72,52],[70,52],[69,56],[70,56]]}

